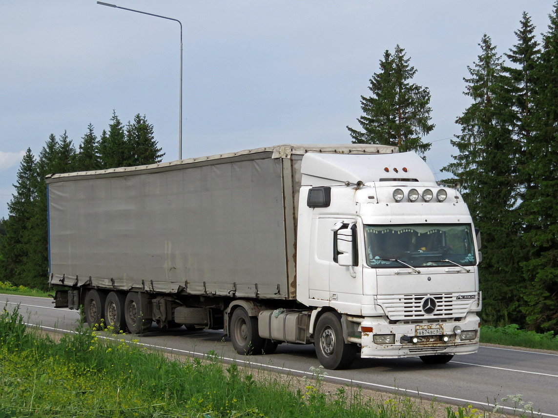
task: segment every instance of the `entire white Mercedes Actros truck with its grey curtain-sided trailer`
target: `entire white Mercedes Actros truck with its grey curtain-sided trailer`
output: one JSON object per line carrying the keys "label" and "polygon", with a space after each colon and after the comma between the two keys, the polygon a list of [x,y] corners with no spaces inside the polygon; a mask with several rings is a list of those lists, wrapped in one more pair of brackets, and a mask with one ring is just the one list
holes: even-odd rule
{"label": "entire white Mercedes Actros truck with its grey curtain-sided trailer", "polygon": [[224,329],[239,354],[314,343],[329,369],[478,349],[480,239],[415,153],[287,144],[47,188],[54,303],[89,324]]}

